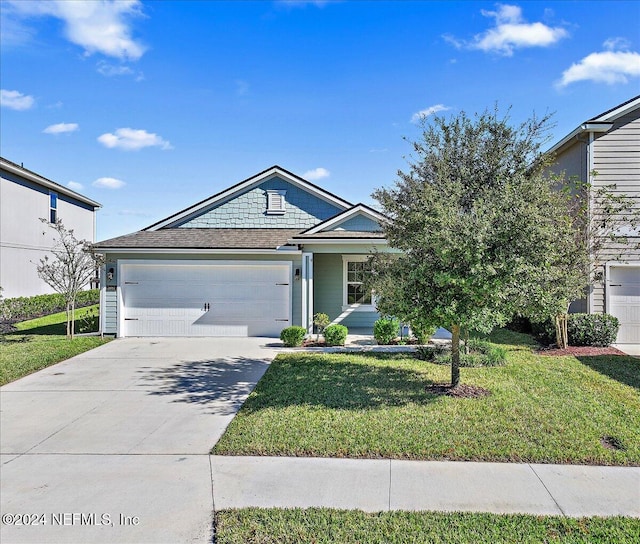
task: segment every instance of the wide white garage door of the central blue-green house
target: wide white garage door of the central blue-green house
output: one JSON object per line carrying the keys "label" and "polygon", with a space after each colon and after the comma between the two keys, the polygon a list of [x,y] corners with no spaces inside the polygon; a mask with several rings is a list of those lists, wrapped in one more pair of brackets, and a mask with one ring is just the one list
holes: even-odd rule
{"label": "wide white garage door of the central blue-green house", "polygon": [[125,264],[122,336],[278,336],[289,264]]}

